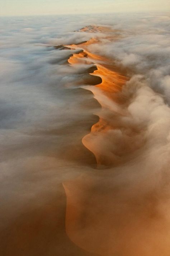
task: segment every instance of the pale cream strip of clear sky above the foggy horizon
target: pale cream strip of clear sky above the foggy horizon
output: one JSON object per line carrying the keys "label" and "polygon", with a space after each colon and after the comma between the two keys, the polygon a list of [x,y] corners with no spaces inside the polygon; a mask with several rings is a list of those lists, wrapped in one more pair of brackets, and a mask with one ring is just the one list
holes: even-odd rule
{"label": "pale cream strip of clear sky above the foggy horizon", "polygon": [[169,0],[1,0],[0,3],[0,16],[169,10]]}

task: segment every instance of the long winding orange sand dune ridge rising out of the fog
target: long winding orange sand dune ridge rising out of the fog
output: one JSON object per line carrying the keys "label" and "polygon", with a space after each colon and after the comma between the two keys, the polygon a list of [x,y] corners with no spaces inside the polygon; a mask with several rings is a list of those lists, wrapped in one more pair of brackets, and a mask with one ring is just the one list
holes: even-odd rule
{"label": "long winding orange sand dune ridge rising out of the fog", "polygon": [[[81,31],[96,30],[98,27],[91,26]],[[110,32],[101,27],[99,31]],[[117,178],[118,173],[133,172],[132,159],[141,155],[140,163],[145,158],[142,153],[147,144],[145,128],[127,122],[129,97],[125,98],[124,92],[129,78],[113,60],[90,53],[88,45],[93,43],[100,42],[92,39],[70,45],[74,49],[83,49],[83,52],[73,54],[68,62],[73,66],[94,65],[96,69],[89,72],[90,75],[102,79],[95,86],[83,86],[93,92],[101,111],[98,112],[99,121],[82,138],[82,143],[95,155],[97,168],[109,167],[110,171],[107,171],[107,177],[102,171],[97,176],[82,174],[63,183],[67,196],[66,232],[76,245],[103,256],[169,255],[169,245],[163,239],[166,235],[169,237],[169,231],[164,230],[166,221],[161,220],[157,210],[158,200],[154,195],[157,192],[139,189],[135,195],[132,191],[138,189],[134,188],[133,178],[132,182]],[[139,165],[136,168],[140,170]],[[148,167],[145,168],[146,171]],[[155,242],[159,246],[155,246]]]}

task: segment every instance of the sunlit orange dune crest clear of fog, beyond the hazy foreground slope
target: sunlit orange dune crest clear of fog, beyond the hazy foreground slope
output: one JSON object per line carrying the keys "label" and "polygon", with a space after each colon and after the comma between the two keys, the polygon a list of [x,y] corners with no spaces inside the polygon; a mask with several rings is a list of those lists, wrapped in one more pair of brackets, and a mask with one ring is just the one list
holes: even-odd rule
{"label": "sunlit orange dune crest clear of fog, beyond the hazy foreground slope", "polygon": [[[80,31],[100,31],[100,32],[110,32],[110,28],[107,27],[94,27],[90,26],[82,28]],[[115,40],[117,37],[114,35],[114,31],[112,36],[108,36],[109,39]],[[78,44],[71,44],[71,45],[64,45],[64,47],[71,48],[71,49],[78,49],[80,50],[79,53],[73,54],[69,59],[68,62],[70,65],[93,65],[96,67],[96,70],[89,72],[90,75],[95,77],[101,78],[101,83],[96,84],[95,86],[84,86],[82,88],[91,91],[94,94],[94,98],[100,103],[101,109],[109,108],[109,105],[106,105],[105,102],[117,102],[119,101],[117,98],[117,93],[121,91],[122,86],[126,83],[129,78],[122,74],[118,70],[118,68],[114,65],[113,60],[90,53],[88,51],[88,46],[91,44],[98,44],[100,43],[97,39],[90,39],[89,41],[84,41]],[[92,67],[93,67],[92,66]],[[92,80],[92,79],[91,79]],[[93,84],[91,81],[89,84]],[[107,121],[99,116],[99,122],[94,124],[91,127],[91,132],[87,134],[85,137],[82,138],[82,144],[89,149],[96,158],[98,167],[102,165],[107,166],[110,165],[110,160],[106,159],[105,156],[100,155],[98,150],[96,150],[96,145],[93,143],[93,137],[98,132],[105,132],[110,127]]]}

